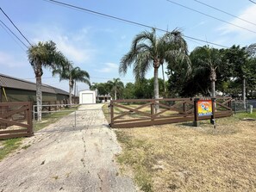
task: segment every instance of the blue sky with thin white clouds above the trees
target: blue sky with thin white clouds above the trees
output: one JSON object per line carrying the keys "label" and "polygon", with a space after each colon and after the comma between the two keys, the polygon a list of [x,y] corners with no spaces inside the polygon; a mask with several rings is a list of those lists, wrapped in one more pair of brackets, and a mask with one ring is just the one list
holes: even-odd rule
{"label": "blue sky with thin white clouds above the trees", "polygon": [[[59,2],[139,22],[153,28],[168,31],[178,28],[183,32],[190,52],[197,46],[207,44],[223,48],[222,46],[249,46],[256,43],[256,0],[255,3],[249,0],[59,0]],[[239,18],[224,14],[205,4]],[[151,28],[70,9],[47,0],[1,0],[0,7],[30,43],[53,40],[58,50],[64,53],[74,66],[89,72],[91,84],[105,83],[117,77],[120,77],[124,84],[134,82],[132,70],[128,70],[125,76],[119,74],[120,60],[125,53],[128,53],[134,36]],[[22,45],[3,23],[29,46],[7,17],[0,12],[0,73],[34,82],[34,71],[28,62],[28,48]],[[157,31],[157,34],[160,36],[163,32]],[[53,77],[50,70],[43,71],[43,84],[68,90],[67,81],[59,82],[59,77]],[[159,71],[159,77],[160,74]],[[147,73],[147,78],[150,77],[153,77],[153,70]],[[88,89],[88,85],[78,83],[78,90]]]}

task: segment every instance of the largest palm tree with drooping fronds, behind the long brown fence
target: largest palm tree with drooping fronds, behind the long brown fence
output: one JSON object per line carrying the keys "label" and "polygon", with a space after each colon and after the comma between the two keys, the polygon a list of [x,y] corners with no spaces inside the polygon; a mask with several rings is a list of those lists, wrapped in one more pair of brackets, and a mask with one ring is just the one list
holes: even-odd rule
{"label": "largest palm tree with drooping fronds, behind the long brown fence", "polygon": [[165,62],[176,65],[180,59],[189,60],[187,53],[187,44],[178,29],[160,38],[156,36],[155,29],[143,31],[135,36],[130,51],[122,57],[119,72],[126,74],[128,67],[134,65],[134,76],[141,79],[153,66],[153,96],[159,99],[159,66]]}

